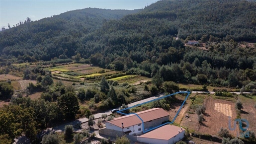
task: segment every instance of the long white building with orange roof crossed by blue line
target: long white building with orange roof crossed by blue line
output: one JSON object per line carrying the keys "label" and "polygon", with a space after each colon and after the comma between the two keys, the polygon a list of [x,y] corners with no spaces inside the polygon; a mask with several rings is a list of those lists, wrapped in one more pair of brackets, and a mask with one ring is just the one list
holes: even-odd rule
{"label": "long white building with orange roof crossed by blue line", "polygon": [[[153,108],[146,111],[136,113],[144,121],[145,131],[161,125],[164,121],[169,120],[169,113],[162,108]],[[106,122],[105,135],[117,135],[114,131],[124,133],[126,135],[143,134],[143,124],[141,119],[135,114],[114,118]],[[123,123],[123,126],[122,126]],[[111,130],[111,132],[109,131]],[[102,134],[103,134],[102,133]],[[115,137],[114,136],[114,137]]]}

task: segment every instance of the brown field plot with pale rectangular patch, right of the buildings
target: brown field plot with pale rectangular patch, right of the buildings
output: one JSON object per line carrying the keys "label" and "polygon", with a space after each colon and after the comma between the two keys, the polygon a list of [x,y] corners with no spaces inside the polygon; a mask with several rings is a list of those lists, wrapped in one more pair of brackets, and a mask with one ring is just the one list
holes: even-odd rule
{"label": "brown field plot with pale rectangular patch, right of the buildings", "polygon": [[[183,118],[181,125],[187,127],[189,130],[194,130],[196,133],[216,136],[222,127],[229,130],[229,116],[232,116],[231,120],[236,119],[235,103],[207,96],[203,104],[206,106],[206,110],[204,121],[201,124],[198,122],[197,114],[194,112],[194,114],[188,114],[188,119]],[[236,131],[230,131],[233,136],[236,136],[237,132],[239,132],[238,127]]]}

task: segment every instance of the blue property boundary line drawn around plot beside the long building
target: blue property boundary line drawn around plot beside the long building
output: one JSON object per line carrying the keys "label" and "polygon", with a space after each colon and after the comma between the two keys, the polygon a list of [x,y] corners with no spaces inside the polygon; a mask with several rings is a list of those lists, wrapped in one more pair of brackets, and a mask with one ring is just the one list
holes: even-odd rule
{"label": "blue property boundary line drawn around plot beside the long building", "polygon": [[[185,99],[184,99],[183,103],[181,104],[180,108],[178,109],[178,111],[177,111],[177,113],[176,113],[175,117],[173,118],[173,120],[172,120],[171,122],[164,123],[164,124],[162,124],[162,125],[159,125],[159,126],[157,126],[157,127],[154,127],[154,128],[149,129],[149,130],[147,130],[147,131],[145,131],[145,130],[144,130],[144,121],[142,120],[142,118],[141,118],[141,117],[139,117],[139,115],[137,115],[137,114],[135,114],[135,113],[129,113],[129,114],[126,114],[126,113],[122,113],[122,112],[121,112],[121,111],[128,110],[128,109],[131,109],[131,108],[134,108],[134,107],[137,107],[137,106],[141,106],[141,105],[143,105],[143,104],[147,104],[147,103],[150,103],[150,102],[153,102],[153,101],[156,101],[156,100],[160,100],[160,99],[163,99],[163,98],[166,98],[166,97],[169,97],[169,96],[172,96],[172,95],[178,94],[178,93],[187,93],[187,96],[185,97]],[[131,107],[128,107],[128,108],[125,108],[125,109],[119,110],[119,111],[117,111],[117,113],[119,113],[119,114],[123,114],[123,115],[131,115],[131,114],[135,114],[135,115],[136,115],[136,116],[137,116],[137,117],[142,121],[142,129],[143,129],[143,133],[147,133],[147,132],[149,132],[149,131],[152,131],[152,130],[155,130],[155,129],[159,128],[159,127],[162,127],[162,126],[164,126],[164,125],[166,125],[166,124],[173,124],[173,123],[174,123],[174,120],[175,120],[175,119],[176,119],[176,117],[178,116],[178,113],[180,112],[180,110],[181,110],[182,106],[184,105],[185,101],[187,100],[187,98],[188,98],[189,94],[190,94],[190,91],[179,91],[179,92],[175,92],[175,93],[172,93],[172,94],[169,94],[169,95],[163,96],[163,97],[159,97],[159,98],[156,98],[156,99],[153,99],[153,100],[150,100],[150,101],[144,102],[144,103],[142,103],[142,104],[138,104],[138,105],[135,105],[135,106],[131,106]]]}

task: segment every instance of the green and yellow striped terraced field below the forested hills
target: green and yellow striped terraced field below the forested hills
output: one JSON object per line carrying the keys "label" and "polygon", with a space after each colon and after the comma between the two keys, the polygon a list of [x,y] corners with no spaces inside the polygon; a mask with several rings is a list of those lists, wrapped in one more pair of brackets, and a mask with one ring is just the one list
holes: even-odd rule
{"label": "green and yellow striped terraced field below the forested hills", "polygon": [[127,82],[133,85],[151,80],[151,78],[145,76],[127,75],[122,72],[94,67],[87,64],[69,64],[54,68],[46,68],[46,70],[51,71],[54,78],[65,81],[94,82],[99,81],[102,75],[105,75],[107,80],[114,80],[118,83]]}

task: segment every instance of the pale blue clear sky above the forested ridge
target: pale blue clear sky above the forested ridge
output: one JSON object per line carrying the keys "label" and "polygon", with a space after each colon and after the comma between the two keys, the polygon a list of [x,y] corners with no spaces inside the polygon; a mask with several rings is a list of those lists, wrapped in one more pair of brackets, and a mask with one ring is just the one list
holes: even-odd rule
{"label": "pale blue clear sky above the forested ridge", "polygon": [[158,0],[0,0],[0,29],[29,17],[32,21],[87,7],[140,9]]}

